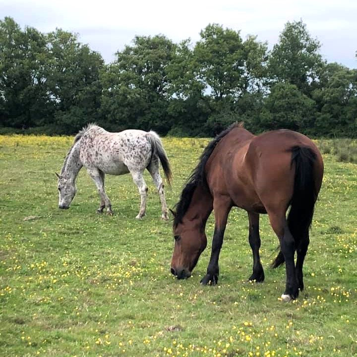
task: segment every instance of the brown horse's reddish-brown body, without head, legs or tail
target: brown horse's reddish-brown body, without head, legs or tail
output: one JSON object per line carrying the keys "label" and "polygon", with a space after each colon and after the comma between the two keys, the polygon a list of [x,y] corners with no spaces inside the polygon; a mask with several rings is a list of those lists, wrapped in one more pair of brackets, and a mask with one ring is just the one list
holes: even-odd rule
{"label": "brown horse's reddish-brown body, without head, legs or tail", "polygon": [[207,176],[213,196],[230,195],[233,205],[258,213],[266,213],[271,207],[287,209],[294,191],[292,148],[296,146],[309,148],[315,154],[313,170],[319,191],[322,157],[309,138],[291,130],[258,136],[242,130],[232,130],[222,139],[214,159],[208,163],[211,168],[216,167]]}

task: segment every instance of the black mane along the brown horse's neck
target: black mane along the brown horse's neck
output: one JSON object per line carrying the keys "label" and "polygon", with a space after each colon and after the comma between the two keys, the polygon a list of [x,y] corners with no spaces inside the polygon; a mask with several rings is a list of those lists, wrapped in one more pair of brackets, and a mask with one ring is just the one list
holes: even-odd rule
{"label": "black mane along the brown horse's neck", "polygon": [[235,127],[243,127],[243,122],[234,122],[227,129],[219,133],[203,150],[199,158],[198,165],[192,171],[191,175],[188,177],[185,187],[182,190],[179,202],[175,205],[175,218],[174,218],[174,228],[178,226],[179,223],[182,223],[183,216],[187,212],[187,209],[191,203],[193,192],[199,184],[206,183],[205,177],[205,167],[209,157],[211,156],[213,150],[217,144],[225,137],[232,129]]}

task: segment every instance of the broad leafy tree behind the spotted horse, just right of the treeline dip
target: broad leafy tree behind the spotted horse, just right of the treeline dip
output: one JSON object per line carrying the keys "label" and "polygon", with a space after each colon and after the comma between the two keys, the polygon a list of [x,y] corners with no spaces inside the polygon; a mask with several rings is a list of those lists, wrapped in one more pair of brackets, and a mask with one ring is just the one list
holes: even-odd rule
{"label": "broad leafy tree behind the spotted horse, just right of the treeline dip", "polygon": [[167,67],[174,52],[173,42],[162,35],[136,36],[133,46],[117,52],[117,60],[102,76],[103,112],[112,123],[160,133],[170,129]]}

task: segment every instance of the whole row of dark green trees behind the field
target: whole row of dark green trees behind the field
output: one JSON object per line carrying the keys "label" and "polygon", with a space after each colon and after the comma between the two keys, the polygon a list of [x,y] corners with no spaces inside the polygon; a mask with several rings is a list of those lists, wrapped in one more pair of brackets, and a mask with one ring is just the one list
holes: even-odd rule
{"label": "whole row of dark green trees behind the field", "polygon": [[0,132],[73,134],[95,121],[108,130],[153,129],[213,136],[234,121],[253,132],[289,128],[357,137],[357,69],[328,63],[300,21],[268,50],[256,36],[209,24],[200,40],[135,36],[105,64],[56,29],[0,20]]}

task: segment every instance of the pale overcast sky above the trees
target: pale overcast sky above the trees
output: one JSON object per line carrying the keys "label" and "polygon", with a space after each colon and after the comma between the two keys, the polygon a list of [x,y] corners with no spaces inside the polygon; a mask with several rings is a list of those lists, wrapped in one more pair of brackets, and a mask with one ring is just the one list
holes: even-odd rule
{"label": "pale overcast sky above the trees", "polygon": [[0,0],[5,16],[22,28],[76,32],[106,62],[135,35],[195,43],[209,23],[240,30],[243,38],[257,35],[271,48],[286,22],[302,19],[324,59],[357,68],[357,0]]}

